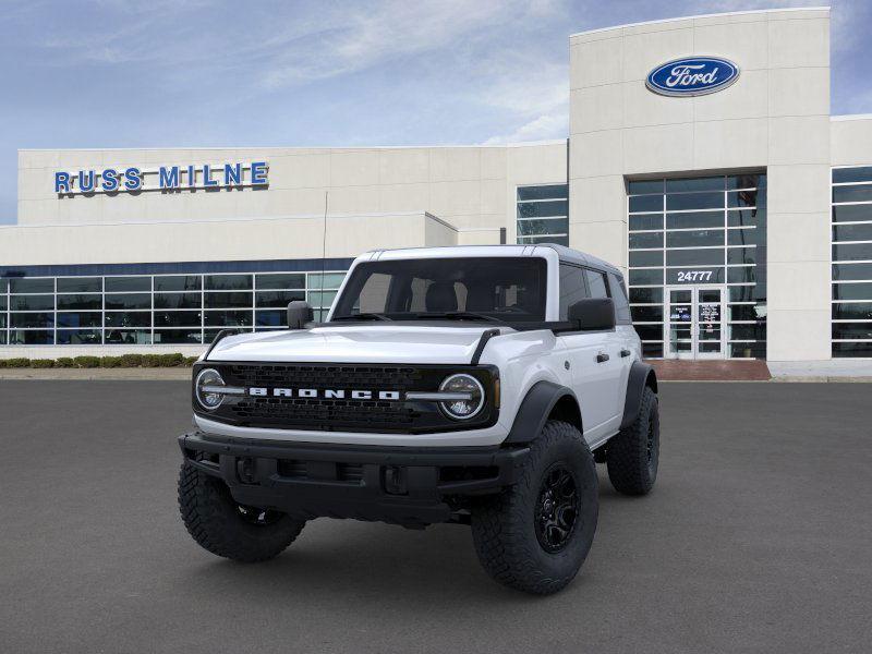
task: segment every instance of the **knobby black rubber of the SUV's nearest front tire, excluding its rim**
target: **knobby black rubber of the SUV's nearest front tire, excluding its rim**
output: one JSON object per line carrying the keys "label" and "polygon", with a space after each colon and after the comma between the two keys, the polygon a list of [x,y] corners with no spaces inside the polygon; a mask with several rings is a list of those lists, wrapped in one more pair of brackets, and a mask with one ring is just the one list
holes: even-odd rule
{"label": "knobby black rubber of the SUV's nearest front tire, excluding its rim", "polygon": [[[537,535],[536,510],[546,473],[556,465],[571,474],[579,507],[562,548],[548,552]],[[588,557],[598,510],[596,464],[588,444],[569,423],[548,421],[531,444],[518,483],[473,506],[479,560],[507,586],[540,595],[556,593],[572,581]]]}

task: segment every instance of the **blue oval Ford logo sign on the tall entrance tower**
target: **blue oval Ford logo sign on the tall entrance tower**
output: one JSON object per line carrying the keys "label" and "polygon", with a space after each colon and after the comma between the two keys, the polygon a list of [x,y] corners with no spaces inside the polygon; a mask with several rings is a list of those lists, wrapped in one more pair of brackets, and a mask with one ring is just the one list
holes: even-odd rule
{"label": "blue oval Ford logo sign on the tall entrance tower", "polygon": [[668,61],[647,75],[645,86],[666,96],[698,96],[726,88],[739,78],[739,66],[718,57]]}

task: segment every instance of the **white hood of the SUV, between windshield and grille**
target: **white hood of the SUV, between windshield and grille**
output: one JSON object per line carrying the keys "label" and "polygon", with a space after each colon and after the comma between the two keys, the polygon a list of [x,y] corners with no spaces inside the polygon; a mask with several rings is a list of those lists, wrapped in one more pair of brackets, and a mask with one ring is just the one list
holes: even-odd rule
{"label": "white hood of the SUV, between windshield and grille", "polygon": [[366,324],[245,334],[220,340],[209,361],[469,364],[482,332],[493,328]]}

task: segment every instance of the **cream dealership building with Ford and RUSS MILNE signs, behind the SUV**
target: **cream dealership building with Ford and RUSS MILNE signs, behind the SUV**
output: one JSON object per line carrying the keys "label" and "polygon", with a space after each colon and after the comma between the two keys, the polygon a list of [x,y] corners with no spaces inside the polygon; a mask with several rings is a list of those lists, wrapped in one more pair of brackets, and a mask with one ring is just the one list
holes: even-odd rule
{"label": "cream dealership building with Ford and RUSS MILNE signs, behind the SUV", "polygon": [[556,242],[625,271],[647,356],[861,363],[872,116],[831,116],[829,40],[826,8],[574,34],[547,143],[21,150],[0,358],[193,353],[365,251]]}

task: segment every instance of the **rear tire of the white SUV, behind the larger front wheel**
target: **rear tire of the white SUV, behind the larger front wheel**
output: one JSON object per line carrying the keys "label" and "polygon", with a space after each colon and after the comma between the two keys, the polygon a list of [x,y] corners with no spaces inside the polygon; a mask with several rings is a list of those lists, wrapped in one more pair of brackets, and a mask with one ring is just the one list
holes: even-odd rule
{"label": "rear tire of the white SUV, behind the larger front wheel", "polygon": [[606,446],[608,479],[623,495],[647,495],[657,480],[661,419],[657,396],[647,386],[639,415]]}

